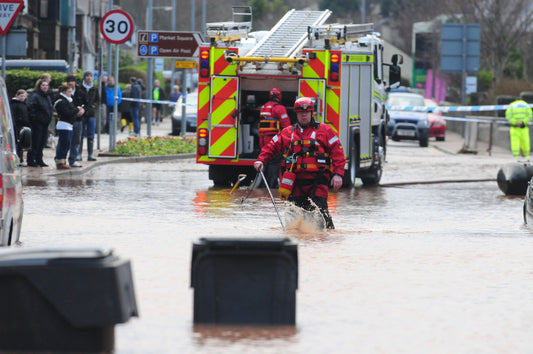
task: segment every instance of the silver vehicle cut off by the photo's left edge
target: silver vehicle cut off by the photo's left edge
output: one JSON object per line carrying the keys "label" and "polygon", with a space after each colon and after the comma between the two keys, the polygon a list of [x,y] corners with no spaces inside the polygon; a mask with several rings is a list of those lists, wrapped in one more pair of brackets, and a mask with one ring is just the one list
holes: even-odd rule
{"label": "silver vehicle cut off by the photo's left edge", "polygon": [[24,203],[15,129],[11,119],[9,96],[2,77],[0,77],[0,118],[2,122],[0,124],[0,246],[9,246],[19,241]]}

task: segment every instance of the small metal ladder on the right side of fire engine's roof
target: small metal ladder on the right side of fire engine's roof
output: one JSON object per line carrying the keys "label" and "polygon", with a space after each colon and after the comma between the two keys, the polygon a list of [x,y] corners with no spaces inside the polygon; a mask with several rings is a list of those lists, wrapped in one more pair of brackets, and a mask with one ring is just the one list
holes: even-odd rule
{"label": "small metal ladder on the right side of fire engine's roof", "polygon": [[330,40],[330,42],[354,41],[365,34],[372,33],[373,31],[373,23],[351,25],[335,23],[329,25],[309,26],[307,29],[309,39],[327,39]]}

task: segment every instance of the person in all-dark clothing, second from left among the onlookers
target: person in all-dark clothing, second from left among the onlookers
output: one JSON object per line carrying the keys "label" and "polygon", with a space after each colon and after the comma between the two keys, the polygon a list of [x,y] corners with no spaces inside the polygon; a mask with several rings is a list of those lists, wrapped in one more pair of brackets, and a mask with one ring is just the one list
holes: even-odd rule
{"label": "person in all-dark clothing, second from left among the onlookers", "polygon": [[37,80],[34,92],[28,100],[32,142],[28,153],[28,166],[48,167],[43,161],[43,148],[48,137],[48,125],[52,121],[53,107],[48,91],[50,86],[43,79]]}

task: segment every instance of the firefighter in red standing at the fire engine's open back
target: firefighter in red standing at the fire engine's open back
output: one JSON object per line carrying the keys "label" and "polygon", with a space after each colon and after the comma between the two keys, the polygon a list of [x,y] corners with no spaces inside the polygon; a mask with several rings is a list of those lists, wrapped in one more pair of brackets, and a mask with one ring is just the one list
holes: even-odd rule
{"label": "firefighter in red standing at the fire engine's open back", "polygon": [[[281,104],[281,90],[274,87],[270,90],[269,101],[259,112],[259,146],[261,149],[281,130],[291,125],[287,109]],[[265,178],[272,188],[278,187],[279,168],[282,156],[274,157],[265,167]]]}

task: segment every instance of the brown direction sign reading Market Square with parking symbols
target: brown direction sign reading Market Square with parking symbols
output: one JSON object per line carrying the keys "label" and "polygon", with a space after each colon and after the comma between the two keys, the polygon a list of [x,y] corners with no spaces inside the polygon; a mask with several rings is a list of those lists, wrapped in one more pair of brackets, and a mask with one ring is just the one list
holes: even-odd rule
{"label": "brown direction sign reading Market Square with parking symbols", "polygon": [[137,32],[137,55],[144,58],[168,57],[191,59],[198,57],[202,43],[200,32]]}

